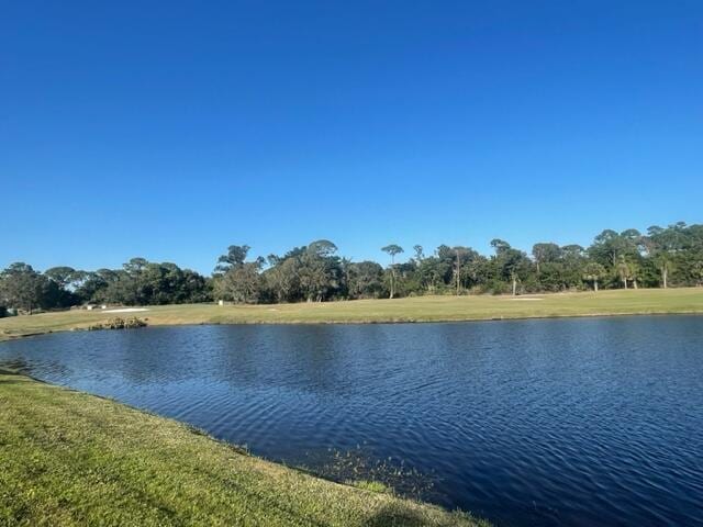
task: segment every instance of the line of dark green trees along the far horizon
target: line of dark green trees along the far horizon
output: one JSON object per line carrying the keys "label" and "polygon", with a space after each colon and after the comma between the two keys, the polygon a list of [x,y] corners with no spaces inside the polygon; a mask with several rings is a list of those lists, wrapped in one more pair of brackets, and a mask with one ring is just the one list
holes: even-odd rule
{"label": "line of dark green trees along the far horizon", "polygon": [[284,255],[249,258],[230,246],[210,277],[176,264],[132,258],[121,269],[53,267],[38,272],[16,262],[0,272],[0,316],[88,303],[158,305],[212,302],[254,304],[381,299],[421,294],[522,294],[703,284],[703,225],[683,222],[621,233],[606,229],[589,247],[538,243],[531,254],[493,239],[489,256],[471,247],[415,245],[410,257],[389,244],[386,265],[352,261],[330,240]]}

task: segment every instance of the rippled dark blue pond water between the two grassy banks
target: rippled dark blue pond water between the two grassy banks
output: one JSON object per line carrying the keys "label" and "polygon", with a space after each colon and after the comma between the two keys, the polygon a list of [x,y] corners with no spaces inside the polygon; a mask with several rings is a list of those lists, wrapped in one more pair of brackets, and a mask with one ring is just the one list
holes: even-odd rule
{"label": "rippled dark blue pond water between the two grassy banks", "polygon": [[402,463],[499,525],[703,525],[700,316],[71,333],[0,363],[275,460]]}

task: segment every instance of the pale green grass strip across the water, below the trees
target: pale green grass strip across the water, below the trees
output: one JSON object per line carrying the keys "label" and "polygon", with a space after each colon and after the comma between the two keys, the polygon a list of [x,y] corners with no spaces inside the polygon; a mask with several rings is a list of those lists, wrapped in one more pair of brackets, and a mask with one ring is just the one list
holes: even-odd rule
{"label": "pale green grass strip across the water, below the trees", "polygon": [[[531,300],[532,299],[532,300]],[[0,340],[86,328],[113,316],[136,315],[149,325],[246,323],[449,322],[618,314],[703,313],[703,289],[650,289],[529,296],[419,296],[278,305],[166,305],[134,314],[74,310],[0,318]]]}

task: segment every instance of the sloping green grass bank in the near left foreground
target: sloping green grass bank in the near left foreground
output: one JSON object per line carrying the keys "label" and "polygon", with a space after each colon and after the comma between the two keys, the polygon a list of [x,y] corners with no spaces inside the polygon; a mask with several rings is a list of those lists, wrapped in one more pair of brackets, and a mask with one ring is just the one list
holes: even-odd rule
{"label": "sloping green grass bank in the near left foreground", "polygon": [[0,525],[481,525],[0,370]]}

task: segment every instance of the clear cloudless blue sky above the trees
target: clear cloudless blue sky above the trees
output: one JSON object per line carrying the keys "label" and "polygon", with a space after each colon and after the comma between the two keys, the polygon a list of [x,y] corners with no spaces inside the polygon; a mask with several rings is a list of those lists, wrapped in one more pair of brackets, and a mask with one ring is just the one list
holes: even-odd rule
{"label": "clear cloudless blue sky above the trees", "polygon": [[0,3],[0,267],[703,221],[698,0]]}

